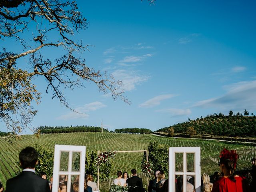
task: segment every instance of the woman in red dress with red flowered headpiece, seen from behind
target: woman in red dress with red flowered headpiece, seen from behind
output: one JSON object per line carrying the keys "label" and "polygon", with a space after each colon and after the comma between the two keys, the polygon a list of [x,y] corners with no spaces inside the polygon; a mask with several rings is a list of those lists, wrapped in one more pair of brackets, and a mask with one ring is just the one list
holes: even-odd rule
{"label": "woman in red dress with red flowered headpiece, seen from behind", "polygon": [[236,150],[224,149],[220,152],[220,171],[223,177],[213,184],[212,192],[248,192],[249,186],[246,180],[234,175],[238,154]]}

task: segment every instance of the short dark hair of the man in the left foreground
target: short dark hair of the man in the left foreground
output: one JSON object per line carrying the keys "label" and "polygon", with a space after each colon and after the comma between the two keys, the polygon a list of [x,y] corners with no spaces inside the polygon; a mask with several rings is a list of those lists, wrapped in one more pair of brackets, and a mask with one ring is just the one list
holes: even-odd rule
{"label": "short dark hair of the man in the left foreground", "polygon": [[20,152],[19,159],[23,169],[35,168],[38,160],[38,152],[33,147],[26,147]]}

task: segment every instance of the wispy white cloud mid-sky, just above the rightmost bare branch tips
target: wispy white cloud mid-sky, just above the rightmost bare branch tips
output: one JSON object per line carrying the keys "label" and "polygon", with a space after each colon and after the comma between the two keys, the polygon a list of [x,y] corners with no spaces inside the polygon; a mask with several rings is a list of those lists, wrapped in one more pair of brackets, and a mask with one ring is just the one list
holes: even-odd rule
{"label": "wispy white cloud mid-sky, just above the rightmost bare branch tips", "polygon": [[129,70],[116,70],[112,75],[115,79],[122,81],[124,91],[134,90],[137,85],[146,82],[149,78],[149,76],[142,76],[137,74],[136,71]]}

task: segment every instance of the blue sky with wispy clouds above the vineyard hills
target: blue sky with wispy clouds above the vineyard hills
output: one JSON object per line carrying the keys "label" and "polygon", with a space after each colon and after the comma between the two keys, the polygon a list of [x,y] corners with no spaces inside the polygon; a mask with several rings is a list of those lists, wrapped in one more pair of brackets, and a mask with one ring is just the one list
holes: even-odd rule
{"label": "blue sky with wispy clouds above the vineyard hills", "polygon": [[149,5],[146,0],[78,0],[77,4],[90,23],[75,38],[92,45],[80,56],[89,67],[122,80],[132,104],[114,101],[86,82],[85,89],[64,90],[70,106],[86,113],[75,114],[51,100],[44,80],[34,79],[43,95],[32,128],[101,126],[103,121],[108,130],[154,131],[214,112],[246,108],[256,114],[254,1],[157,0]]}

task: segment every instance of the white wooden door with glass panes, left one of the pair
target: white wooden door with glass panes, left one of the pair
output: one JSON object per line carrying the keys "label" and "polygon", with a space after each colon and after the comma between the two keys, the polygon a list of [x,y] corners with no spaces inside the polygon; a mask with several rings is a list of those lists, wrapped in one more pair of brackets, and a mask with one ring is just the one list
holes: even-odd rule
{"label": "white wooden door with glass panes, left one of the pair", "polygon": [[86,146],[55,145],[52,192],[84,192]]}

